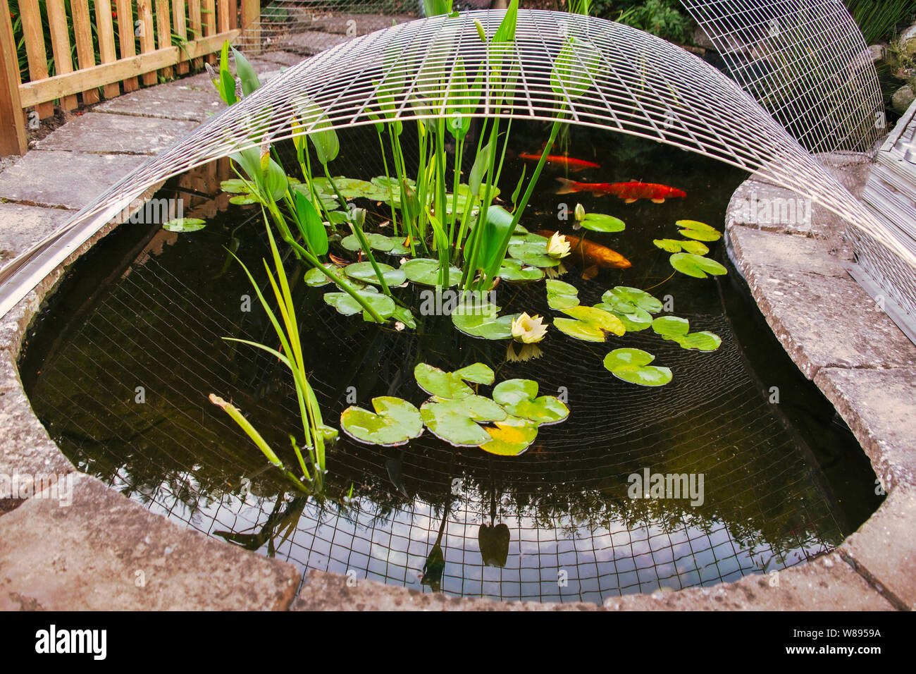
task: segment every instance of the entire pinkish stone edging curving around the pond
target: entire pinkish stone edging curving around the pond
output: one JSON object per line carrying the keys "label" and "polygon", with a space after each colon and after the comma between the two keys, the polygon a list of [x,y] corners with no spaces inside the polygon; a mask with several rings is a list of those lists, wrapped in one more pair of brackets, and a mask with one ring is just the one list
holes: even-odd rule
{"label": "entire pinkish stone edging curving around the pond", "polygon": [[[855,188],[863,163],[832,159]],[[744,222],[741,204],[795,198],[748,180],[726,215],[736,268],[780,343],[834,403],[889,492],[842,546],[769,576],[593,603],[496,602],[300,572],[153,514],[76,470],[32,413],[16,370],[27,326],[99,232],[0,319],[0,475],[68,474],[67,507],[0,493],[0,610],[912,610],[916,606],[916,347],[843,269],[831,216]],[[836,250],[834,250],[835,252]],[[53,488],[51,488],[53,490]],[[297,592],[297,590],[299,591]]]}

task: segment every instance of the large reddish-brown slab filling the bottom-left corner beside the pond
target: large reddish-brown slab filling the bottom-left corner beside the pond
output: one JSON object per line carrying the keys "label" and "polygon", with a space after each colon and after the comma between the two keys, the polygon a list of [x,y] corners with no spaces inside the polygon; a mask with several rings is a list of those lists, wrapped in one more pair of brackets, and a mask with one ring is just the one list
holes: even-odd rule
{"label": "large reddish-brown slab filling the bottom-left corner beside the pond", "polygon": [[72,503],[28,499],[0,516],[0,610],[285,610],[299,571],[152,514],[103,482]]}

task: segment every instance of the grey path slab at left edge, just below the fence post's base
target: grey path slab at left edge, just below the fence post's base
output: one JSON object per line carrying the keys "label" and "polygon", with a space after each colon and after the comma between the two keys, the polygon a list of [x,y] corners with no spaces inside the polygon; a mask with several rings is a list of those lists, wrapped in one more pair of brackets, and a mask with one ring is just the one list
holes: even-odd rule
{"label": "grey path slab at left edge, just below the fence post's base", "polygon": [[0,173],[0,199],[80,209],[145,160],[128,155],[32,150]]}

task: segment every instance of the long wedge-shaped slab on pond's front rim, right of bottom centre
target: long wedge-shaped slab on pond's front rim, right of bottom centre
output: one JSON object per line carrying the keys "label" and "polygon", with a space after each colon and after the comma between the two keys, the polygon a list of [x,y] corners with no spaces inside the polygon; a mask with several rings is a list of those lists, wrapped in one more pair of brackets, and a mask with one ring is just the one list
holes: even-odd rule
{"label": "long wedge-shaped slab on pond's front rim, right of bottom centre", "polygon": [[605,600],[608,611],[893,611],[895,606],[838,555],[774,574],[680,591]]}

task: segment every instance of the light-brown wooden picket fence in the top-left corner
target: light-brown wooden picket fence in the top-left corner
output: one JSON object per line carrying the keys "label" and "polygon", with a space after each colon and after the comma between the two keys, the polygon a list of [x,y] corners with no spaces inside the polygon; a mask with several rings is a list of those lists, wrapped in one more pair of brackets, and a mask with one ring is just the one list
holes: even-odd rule
{"label": "light-brown wooden picket fence in the top-left corner", "polygon": [[[260,16],[260,0],[93,0],[94,16],[89,0],[66,4],[70,17],[65,0],[18,0],[28,62],[23,82],[9,3],[0,0],[0,155],[25,154],[27,121],[53,115],[55,102],[71,110],[77,94],[83,104],[96,103],[100,88],[111,98],[140,83],[157,83],[157,73],[171,78],[200,68],[204,60],[215,61],[213,52],[224,40],[236,38]],[[51,60],[55,74],[49,76]]]}

